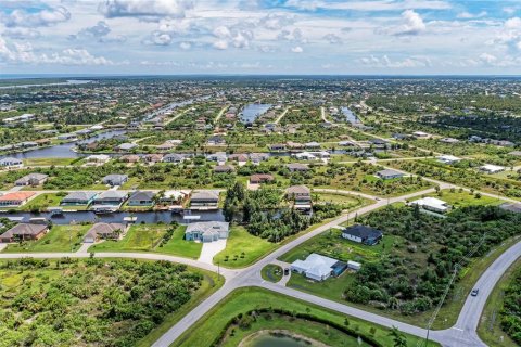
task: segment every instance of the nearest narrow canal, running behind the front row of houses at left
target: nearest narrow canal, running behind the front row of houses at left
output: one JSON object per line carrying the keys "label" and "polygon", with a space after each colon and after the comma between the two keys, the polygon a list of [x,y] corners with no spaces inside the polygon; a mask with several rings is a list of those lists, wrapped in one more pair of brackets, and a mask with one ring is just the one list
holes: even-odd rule
{"label": "nearest narrow canal, running behind the front row of houses at left", "polygon": [[[114,213],[114,214],[94,214],[92,211],[65,211],[62,215],[52,216],[50,213],[1,213],[0,218],[11,218],[16,221],[28,222],[30,218],[46,218],[54,224],[71,224],[80,222],[112,222],[123,223],[126,217],[136,217],[137,223],[170,223],[171,221],[186,222],[183,216],[187,214],[174,214],[170,211],[149,211],[149,213]],[[192,210],[189,216],[200,216],[196,221],[225,221],[225,217],[220,209],[196,211]]]}

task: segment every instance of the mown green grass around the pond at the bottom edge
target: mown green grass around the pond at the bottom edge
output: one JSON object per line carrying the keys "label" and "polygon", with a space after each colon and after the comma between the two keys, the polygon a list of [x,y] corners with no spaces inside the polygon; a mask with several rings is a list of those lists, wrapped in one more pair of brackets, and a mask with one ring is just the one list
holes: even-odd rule
{"label": "mown green grass around the pond at the bottom edge", "polygon": [[[344,324],[345,319],[348,319],[350,327],[358,329],[360,334],[370,335],[371,329],[374,330],[374,338],[385,346],[392,346],[392,338],[389,336],[389,330],[355,317],[346,317],[345,314],[327,310],[313,304],[307,304],[297,299],[293,299],[289,296],[274,293],[262,288],[245,287],[236,290],[215,306],[209,312],[207,312],[192,329],[181,335],[173,346],[211,346],[214,339],[220,334],[226,323],[239,313],[244,313],[249,310],[258,308],[280,308],[300,313],[309,313],[329,321]],[[327,330],[323,325],[315,326],[310,329],[304,321],[303,324],[293,323],[289,324],[284,320],[277,316],[274,316],[271,320],[258,319],[249,329],[238,327],[236,329],[234,336],[229,336],[225,346],[237,346],[238,343],[245,336],[266,329],[281,329],[290,330],[296,334],[309,336],[314,339],[321,340],[323,343],[332,343],[328,338],[334,338],[329,334],[325,334]],[[347,338],[345,339],[347,340]],[[418,337],[407,335],[407,346],[416,346]],[[353,342],[356,345],[356,340]],[[350,344],[351,345],[351,344]],[[430,344],[430,346],[437,346],[437,344]]]}

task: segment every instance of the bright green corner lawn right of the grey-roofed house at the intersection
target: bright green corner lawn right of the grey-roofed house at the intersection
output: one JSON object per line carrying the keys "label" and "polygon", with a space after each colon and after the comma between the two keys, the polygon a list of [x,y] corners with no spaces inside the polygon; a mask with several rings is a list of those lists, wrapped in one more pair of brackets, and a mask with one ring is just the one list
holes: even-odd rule
{"label": "bright green corner lawn right of the grey-roofed house at the intersection", "polygon": [[231,227],[226,248],[214,257],[214,264],[219,262],[225,268],[244,268],[277,247],[276,243],[254,236],[243,227]]}

